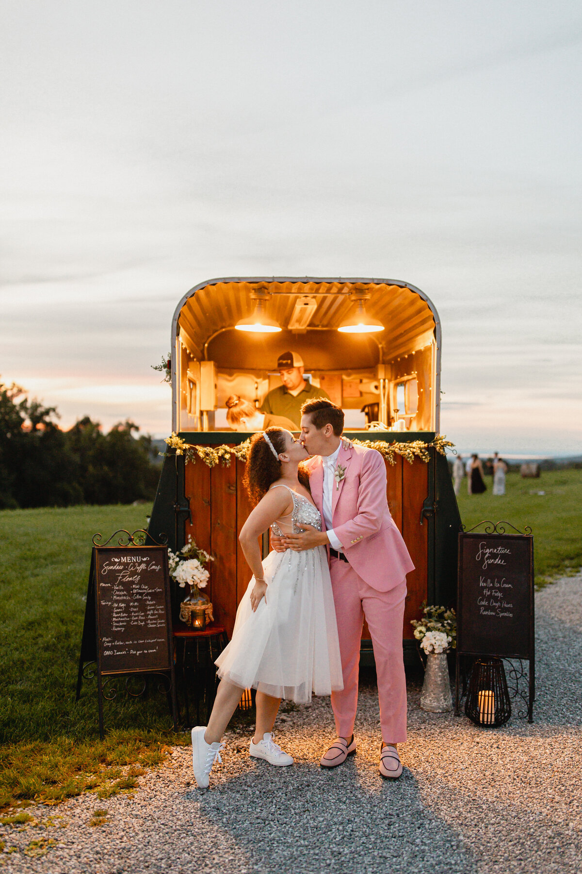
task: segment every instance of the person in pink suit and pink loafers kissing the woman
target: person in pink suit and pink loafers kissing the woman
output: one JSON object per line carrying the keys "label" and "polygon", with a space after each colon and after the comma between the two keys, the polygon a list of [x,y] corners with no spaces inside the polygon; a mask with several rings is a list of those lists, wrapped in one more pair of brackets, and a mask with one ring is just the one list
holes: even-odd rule
{"label": "person in pink suit and pink loafers kissing the woman", "polygon": [[343,690],[332,692],[338,737],[320,764],[336,767],[356,752],[359,646],[366,617],[380,698],[380,774],[394,779],[402,773],[397,745],[407,737],[402,625],[406,575],[414,565],[388,510],[381,454],[342,440],[344,413],[331,401],[310,400],[301,412],[300,440],[312,455],[306,463],[323,531],[303,525],[304,533],[285,536],[281,547],[328,548],[344,678]]}

